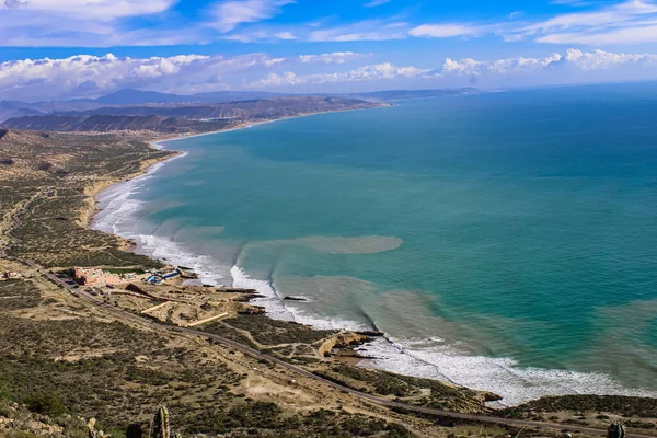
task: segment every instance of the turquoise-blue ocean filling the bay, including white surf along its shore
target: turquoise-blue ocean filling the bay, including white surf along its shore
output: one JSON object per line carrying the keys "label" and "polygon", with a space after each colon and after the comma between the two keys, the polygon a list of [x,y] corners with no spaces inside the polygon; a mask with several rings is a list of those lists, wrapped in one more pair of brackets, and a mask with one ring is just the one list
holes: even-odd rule
{"label": "turquoise-blue ocean filling the bay, including white surf along its shore", "polygon": [[[657,85],[399,102],[164,142],[95,228],[378,328],[369,366],[489,390],[657,396]],[[285,296],[307,302],[281,301]]]}

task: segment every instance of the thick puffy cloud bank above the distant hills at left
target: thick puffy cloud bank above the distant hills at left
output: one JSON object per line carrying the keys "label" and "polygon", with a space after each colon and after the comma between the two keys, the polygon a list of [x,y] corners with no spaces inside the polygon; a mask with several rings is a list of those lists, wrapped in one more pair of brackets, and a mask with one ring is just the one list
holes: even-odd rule
{"label": "thick puffy cloud bank above the distant hills at left", "polygon": [[266,54],[130,58],[108,54],[13,60],[0,64],[0,95],[42,100],[97,95],[123,88],[181,93],[215,91],[240,84],[245,73],[262,74],[290,66],[342,65],[364,56],[335,53],[289,58]]}

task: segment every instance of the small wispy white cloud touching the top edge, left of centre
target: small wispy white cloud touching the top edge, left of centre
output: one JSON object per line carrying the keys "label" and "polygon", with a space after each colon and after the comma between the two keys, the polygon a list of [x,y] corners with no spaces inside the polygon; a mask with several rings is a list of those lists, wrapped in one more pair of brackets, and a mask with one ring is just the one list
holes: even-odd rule
{"label": "small wispy white cloud touching the top edge, left of centre", "polygon": [[281,12],[295,0],[228,0],[215,5],[215,26],[230,32],[242,23],[257,23]]}

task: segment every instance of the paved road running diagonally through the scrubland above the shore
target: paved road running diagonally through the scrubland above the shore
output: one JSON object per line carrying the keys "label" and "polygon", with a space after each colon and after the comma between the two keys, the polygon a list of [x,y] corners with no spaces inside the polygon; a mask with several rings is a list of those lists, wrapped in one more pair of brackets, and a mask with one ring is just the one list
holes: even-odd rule
{"label": "paved road running diagonally through the scrubland above the shore", "polygon": [[[397,402],[393,402],[383,397],[379,397],[376,395],[371,395],[371,394],[367,394],[365,392],[360,392],[360,391],[356,391],[351,388],[348,387],[344,387],[342,384],[332,382],[330,380],[326,380],[320,376],[313,374],[312,372],[297,367],[295,365],[288,364],[284,360],[280,360],[276,357],[273,356],[268,356],[265,355],[254,348],[247,347],[243,344],[240,344],[235,341],[232,339],[228,339],[226,337],[219,336],[219,335],[215,335],[211,333],[206,333],[206,332],[200,332],[197,330],[193,330],[193,328],[185,328],[185,327],[178,327],[178,326],[171,326],[171,325],[163,325],[163,324],[158,324],[154,323],[150,320],[146,320],[143,318],[137,316],[136,314],[132,314],[130,312],[117,309],[113,306],[110,304],[105,304],[104,302],[102,302],[101,300],[97,300],[96,298],[79,290],[79,289],[74,289],[71,286],[67,285],[61,278],[58,278],[57,276],[48,273],[46,269],[44,269],[42,266],[37,265],[34,262],[31,261],[23,261],[24,263],[27,263],[28,265],[33,266],[34,268],[38,269],[43,275],[45,275],[46,277],[50,278],[53,281],[55,281],[56,284],[62,286],[64,288],[70,290],[71,292],[73,292],[76,296],[84,299],[85,301],[89,301],[90,303],[97,306],[99,308],[103,308],[112,313],[115,314],[119,314],[122,318],[126,319],[126,320],[130,320],[140,324],[146,324],[148,326],[155,326],[159,330],[162,331],[169,331],[169,332],[177,332],[177,333],[183,333],[183,334],[187,334],[187,335],[194,335],[194,336],[199,336],[199,337],[205,337],[207,339],[211,339],[215,342],[218,342],[220,344],[223,344],[226,346],[229,346],[231,348],[234,348],[243,354],[246,354],[251,357],[254,357],[256,359],[264,359],[264,360],[268,360],[270,362],[274,362],[283,368],[286,368],[299,376],[306,377],[308,379],[313,379],[315,381],[320,381],[328,387],[335,388],[339,391],[344,391],[347,392],[349,394],[356,395],[357,397],[360,397],[362,400],[367,400],[369,402],[382,405],[382,406],[387,406],[387,407],[396,407],[396,408],[402,408],[402,410],[406,410],[410,412],[415,412],[415,413],[420,413],[420,414],[429,414],[429,415],[436,415],[436,416],[440,416],[440,417],[446,417],[446,418],[453,418],[453,419],[461,419],[461,420],[468,420],[468,422],[479,422],[479,423],[487,423],[487,424],[498,424],[498,425],[503,425],[503,426],[514,426],[514,427],[519,427],[519,428],[528,428],[528,427],[538,427],[538,428],[542,428],[542,429],[549,429],[549,430],[553,430],[553,431],[563,431],[563,430],[568,430],[570,433],[580,433],[580,434],[588,434],[588,435],[598,435],[598,436],[607,436],[607,430],[602,430],[602,429],[595,429],[595,428],[590,428],[590,427],[584,427],[584,426],[576,426],[576,425],[558,425],[558,424],[551,424],[551,423],[542,423],[542,422],[529,422],[529,420],[522,420],[522,419],[511,419],[511,418],[499,418],[499,417],[492,417],[492,416],[487,416],[487,415],[477,415],[477,414],[461,414],[461,413],[456,413],[456,412],[449,412],[449,411],[441,411],[441,410],[434,410],[430,407],[423,407],[423,406],[414,406],[414,405],[410,405],[410,404],[405,404],[405,403],[397,403]],[[650,435],[638,435],[638,434],[626,434],[625,435],[626,438],[655,438],[655,436],[650,436]]]}

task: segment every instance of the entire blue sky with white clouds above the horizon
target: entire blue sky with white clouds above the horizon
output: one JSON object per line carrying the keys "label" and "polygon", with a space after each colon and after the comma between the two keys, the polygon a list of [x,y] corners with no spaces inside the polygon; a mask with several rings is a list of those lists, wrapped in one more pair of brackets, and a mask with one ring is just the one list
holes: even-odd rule
{"label": "entire blue sky with white clouds above the horizon", "polygon": [[657,0],[0,0],[0,100],[657,79]]}

